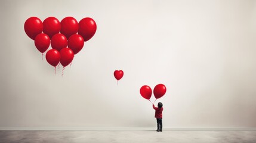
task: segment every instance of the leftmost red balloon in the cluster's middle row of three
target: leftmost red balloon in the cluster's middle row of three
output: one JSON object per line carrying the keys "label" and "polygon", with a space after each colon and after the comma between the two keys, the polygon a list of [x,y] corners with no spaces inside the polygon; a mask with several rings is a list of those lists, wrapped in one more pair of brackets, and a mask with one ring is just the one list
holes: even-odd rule
{"label": "leftmost red balloon in the cluster's middle row of three", "polygon": [[48,35],[41,33],[35,38],[35,45],[38,51],[45,52],[50,46],[50,38]]}

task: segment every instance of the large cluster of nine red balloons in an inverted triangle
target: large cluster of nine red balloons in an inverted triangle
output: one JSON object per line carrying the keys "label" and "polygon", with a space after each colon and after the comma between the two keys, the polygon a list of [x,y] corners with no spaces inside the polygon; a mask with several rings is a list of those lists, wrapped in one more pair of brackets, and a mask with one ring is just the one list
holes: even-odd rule
{"label": "large cluster of nine red balloons in an inverted triangle", "polygon": [[75,54],[90,40],[96,32],[95,21],[86,17],[76,21],[73,17],[65,17],[58,21],[55,17],[48,17],[43,22],[38,17],[30,17],[24,23],[24,30],[29,38],[35,41],[35,46],[42,54],[47,51],[45,58],[51,66],[59,63],[66,67]]}

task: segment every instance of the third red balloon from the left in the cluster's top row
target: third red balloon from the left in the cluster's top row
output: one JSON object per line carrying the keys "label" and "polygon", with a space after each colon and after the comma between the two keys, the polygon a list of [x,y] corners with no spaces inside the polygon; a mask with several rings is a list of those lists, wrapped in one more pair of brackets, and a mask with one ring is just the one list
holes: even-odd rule
{"label": "third red balloon from the left in the cluster's top row", "polygon": [[78,32],[78,21],[73,17],[65,17],[60,21],[61,29],[60,33],[69,39],[69,36],[76,34]]}

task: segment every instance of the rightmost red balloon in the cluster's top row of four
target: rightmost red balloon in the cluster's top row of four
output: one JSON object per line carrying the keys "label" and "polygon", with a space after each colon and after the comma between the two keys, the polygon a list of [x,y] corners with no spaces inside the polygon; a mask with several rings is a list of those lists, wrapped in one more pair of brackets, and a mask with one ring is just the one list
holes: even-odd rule
{"label": "rightmost red balloon in the cluster's top row of four", "polygon": [[86,17],[79,21],[78,34],[84,38],[84,41],[90,40],[92,36],[94,36],[96,30],[97,25],[92,18]]}

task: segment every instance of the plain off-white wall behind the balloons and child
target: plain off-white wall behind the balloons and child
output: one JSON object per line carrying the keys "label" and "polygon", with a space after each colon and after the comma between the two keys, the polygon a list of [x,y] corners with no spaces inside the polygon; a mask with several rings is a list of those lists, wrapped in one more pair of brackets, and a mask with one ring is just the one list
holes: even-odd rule
{"label": "plain off-white wall behind the balloons and child", "polygon": [[[158,83],[164,128],[256,127],[256,1],[0,1],[0,14],[1,128],[155,127],[139,90]],[[96,21],[63,77],[26,36],[32,16]]]}

